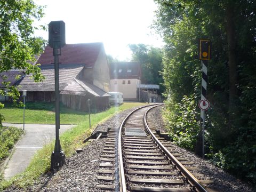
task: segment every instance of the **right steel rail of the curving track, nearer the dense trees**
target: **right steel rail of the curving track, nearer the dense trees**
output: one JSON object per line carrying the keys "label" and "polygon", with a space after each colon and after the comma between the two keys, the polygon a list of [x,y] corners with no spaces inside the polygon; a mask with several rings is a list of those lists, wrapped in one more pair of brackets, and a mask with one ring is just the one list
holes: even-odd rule
{"label": "right steel rail of the curving track, nearer the dense trees", "polygon": [[150,111],[153,108],[150,108],[146,111],[145,115],[144,115],[144,123],[146,126],[147,131],[149,132],[149,134],[151,135],[151,137],[153,138],[153,140],[155,141],[156,145],[159,146],[159,148],[162,149],[162,151],[167,155],[167,157],[170,158],[170,160],[172,161],[172,163],[177,167],[177,169],[179,171],[181,171],[181,174],[186,177],[188,179],[188,182],[190,183],[190,185],[194,186],[196,188],[197,191],[199,192],[207,192],[207,190],[199,183],[199,181],[194,177],[193,174],[191,174],[186,168],[185,166],[183,166],[171,153],[168,149],[166,149],[163,144],[156,138],[156,136],[151,132],[151,130],[149,129],[149,126],[147,124],[147,113],[148,111]]}

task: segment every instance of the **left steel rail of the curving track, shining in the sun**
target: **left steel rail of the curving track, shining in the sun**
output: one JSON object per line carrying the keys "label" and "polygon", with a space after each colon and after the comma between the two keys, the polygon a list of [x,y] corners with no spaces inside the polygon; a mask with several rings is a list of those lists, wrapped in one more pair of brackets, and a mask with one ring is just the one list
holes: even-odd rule
{"label": "left steel rail of the curving track, shining in the sun", "polygon": [[[158,105],[158,104],[155,104],[155,105]],[[143,106],[143,107],[139,107],[135,110],[133,110],[130,114],[128,114],[124,121],[122,122],[122,124],[120,125],[120,128],[119,128],[119,133],[118,133],[118,154],[119,154],[119,183],[120,183],[120,191],[121,192],[126,192],[126,182],[125,182],[125,173],[124,173],[124,164],[123,164],[123,153],[122,153],[122,129],[123,129],[123,126],[125,124],[125,122],[127,121],[127,119],[137,110],[140,110],[142,108],[145,108],[145,107],[149,107],[149,106],[155,106],[155,105],[148,105],[148,106]]]}

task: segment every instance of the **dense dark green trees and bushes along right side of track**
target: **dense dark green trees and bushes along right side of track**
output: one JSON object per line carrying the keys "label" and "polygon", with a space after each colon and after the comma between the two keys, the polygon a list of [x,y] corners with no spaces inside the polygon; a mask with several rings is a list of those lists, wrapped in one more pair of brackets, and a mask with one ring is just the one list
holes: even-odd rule
{"label": "dense dark green trees and bushes along right side of track", "polygon": [[[212,59],[207,68],[206,98],[211,103],[206,118],[207,157],[255,184],[256,154],[252,138],[256,134],[256,2],[155,2],[158,10],[153,28],[166,43],[163,78],[170,134],[179,145],[193,150],[195,134],[191,134],[190,126],[195,130],[191,122],[198,122],[199,117],[189,111],[190,104],[199,101],[201,92],[197,44],[199,38],[209,38]],[[199,113],[196,105],[195,110]]]}

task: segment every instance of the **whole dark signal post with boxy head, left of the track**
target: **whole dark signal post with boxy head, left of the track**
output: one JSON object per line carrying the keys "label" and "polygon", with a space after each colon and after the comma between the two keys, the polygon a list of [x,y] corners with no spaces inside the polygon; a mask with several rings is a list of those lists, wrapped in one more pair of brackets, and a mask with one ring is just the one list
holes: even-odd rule
{"label": "whole dark signal post with boxy head, left of the track", "polygon": [[51,155],[51,171],[58,170],[65,163],[65,154],[60,146],[60,99],[59,99],[59,55],[65,42],[65,22],[51,21],[49,23],[49,46],[53,48],[55,77],[55,131],[54,151]]}

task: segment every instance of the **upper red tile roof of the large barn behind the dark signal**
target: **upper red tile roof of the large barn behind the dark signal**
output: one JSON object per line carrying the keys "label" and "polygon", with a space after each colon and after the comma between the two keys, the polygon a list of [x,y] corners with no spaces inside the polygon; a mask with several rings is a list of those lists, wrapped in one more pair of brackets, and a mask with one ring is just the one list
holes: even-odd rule
{"label": "upper red tile roof of the large barn behind the dark signal", "polygon": [[[66,44],[61,48],[59,62],[61,64],[84,64],[85,67],[94,67],[103,43]],[[53,49],[48,45],[37,63],[47,65],[54,63]]]}

